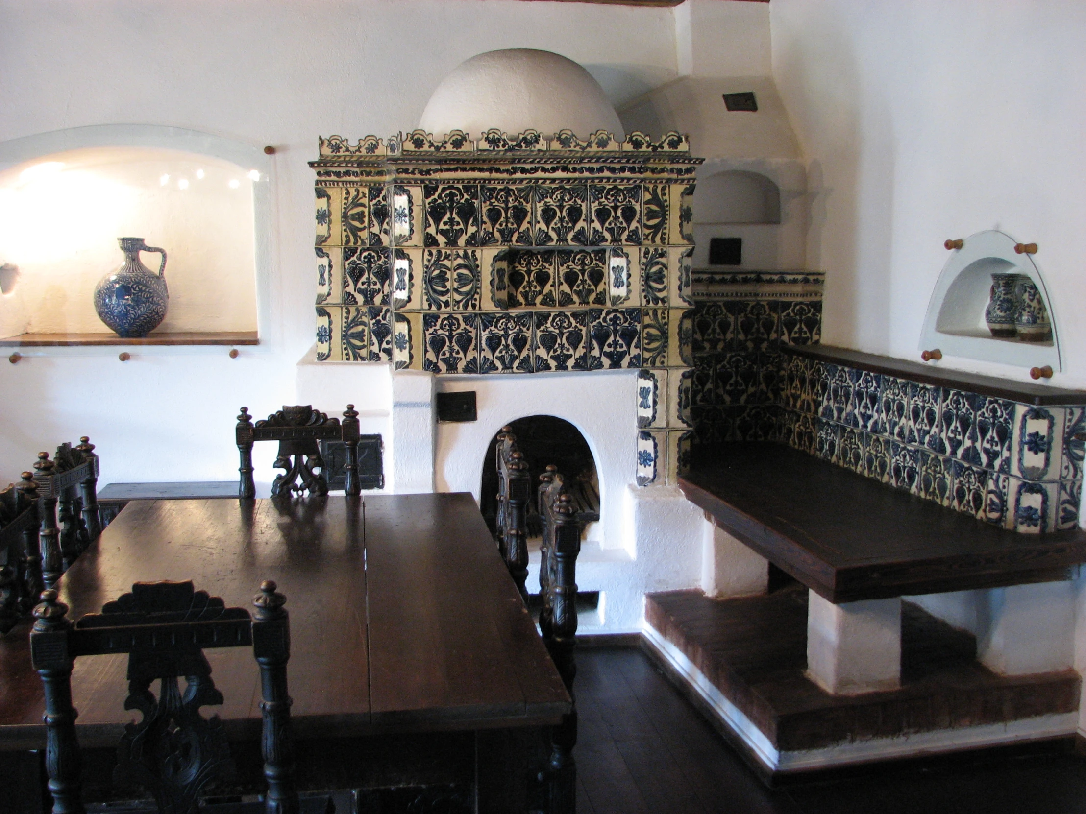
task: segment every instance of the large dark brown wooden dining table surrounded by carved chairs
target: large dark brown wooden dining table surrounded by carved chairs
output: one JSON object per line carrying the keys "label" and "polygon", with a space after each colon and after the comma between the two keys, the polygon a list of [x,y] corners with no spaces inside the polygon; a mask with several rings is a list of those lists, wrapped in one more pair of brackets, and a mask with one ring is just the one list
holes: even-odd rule
{"label": "large dark brown wooden dining table surrounded by carved chairs", "polygon": [[[540,738],[571,710],[466,493],[134,500],[56,587],[75,619],[159,580],[191,580],[243,608],[262,580],[278,583],[303,789],[464,781],[479,811],[515,811]],[[28,626],[0,639],[0,751],[24,762],[46,743]],[[203,712],[220,716],[239,774],[258,786],[258,751],[243,748],[261,730],[252,652],[205,656],[225,703]],[[80,747],[103,765],[135,715],[126,667],[126,656],[87,657],[72,674]]]}

